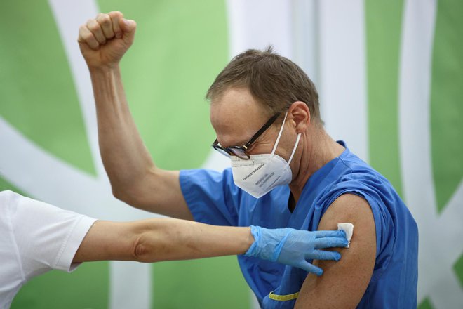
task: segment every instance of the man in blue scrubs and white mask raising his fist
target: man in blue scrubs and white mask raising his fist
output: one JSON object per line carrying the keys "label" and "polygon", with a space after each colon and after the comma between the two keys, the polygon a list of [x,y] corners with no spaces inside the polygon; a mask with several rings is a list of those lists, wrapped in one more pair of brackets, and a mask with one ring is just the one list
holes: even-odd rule
{"label": "man in blue scrubs and white mask raising his fist", "polygon": [[[340,261],[313,261],[321,276],[239,256],[262,307],[416,308],[417,225],[389,181],[328,136],[316,88],[300,67],[271,50],[236,56],[207,94],[213,147],[231,169],[166,171],[152,162],[123,92],[119,60],[135,27],[112,12],[79,30],[114,195],[213,225],[315,231],[353,223]],[[175,107],[166,117],[174,116]]]}

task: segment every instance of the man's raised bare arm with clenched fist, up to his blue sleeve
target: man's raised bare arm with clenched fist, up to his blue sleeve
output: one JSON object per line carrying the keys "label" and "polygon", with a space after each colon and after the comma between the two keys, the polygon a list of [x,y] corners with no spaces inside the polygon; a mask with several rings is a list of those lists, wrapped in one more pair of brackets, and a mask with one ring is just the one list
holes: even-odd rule
{"label": "man's raised bare arm with clenched fist, up to his blue sleeve", "polygon": [[98,14],[79,29],[79,47],[93,85],[98,140],[115,197],[132,206],[192,220],[180,190],[179,172],[154,165],[130,114],[119,62],[136,24],[120,12]]}

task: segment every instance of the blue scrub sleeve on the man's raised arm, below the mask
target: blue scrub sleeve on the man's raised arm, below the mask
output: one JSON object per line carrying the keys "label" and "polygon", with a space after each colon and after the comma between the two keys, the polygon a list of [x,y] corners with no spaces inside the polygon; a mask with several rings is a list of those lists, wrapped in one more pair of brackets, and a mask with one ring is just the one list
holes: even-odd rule
{"label": "blue scrub sleeve on the man's raised arm, below the mask", "polygon": [[238,225],[241,190],[233,182],[231,169],[180,171],[180,188],[195,221]]}

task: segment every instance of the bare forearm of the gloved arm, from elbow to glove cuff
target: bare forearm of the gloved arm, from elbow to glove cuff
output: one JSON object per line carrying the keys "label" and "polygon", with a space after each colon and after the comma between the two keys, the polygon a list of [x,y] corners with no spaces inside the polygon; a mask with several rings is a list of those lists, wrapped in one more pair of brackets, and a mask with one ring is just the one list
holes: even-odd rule
{"label": "bare forearm of the gloved arm, from elbow to glove cuff", "polygon": [[244,254],[254,242],[250,228],[150,219],[137,243],[138,261],[156,262]]}

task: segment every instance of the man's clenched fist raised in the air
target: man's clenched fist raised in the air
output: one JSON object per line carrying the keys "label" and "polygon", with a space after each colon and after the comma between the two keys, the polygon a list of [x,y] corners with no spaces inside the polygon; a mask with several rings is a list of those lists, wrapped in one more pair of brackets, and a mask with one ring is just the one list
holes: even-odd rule
{"label": "man's clenched fist raised in the air", "polygon": [[133,43],[137,24],[121,12],[100,13],[79,28],[79,47],[88,67],[117,65]]}

